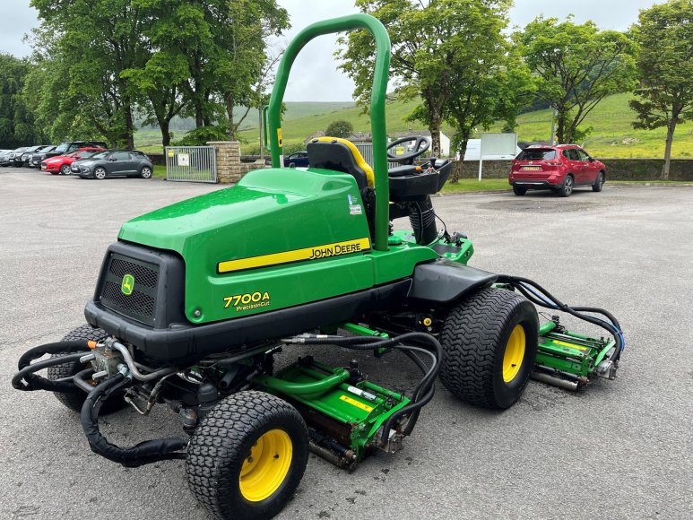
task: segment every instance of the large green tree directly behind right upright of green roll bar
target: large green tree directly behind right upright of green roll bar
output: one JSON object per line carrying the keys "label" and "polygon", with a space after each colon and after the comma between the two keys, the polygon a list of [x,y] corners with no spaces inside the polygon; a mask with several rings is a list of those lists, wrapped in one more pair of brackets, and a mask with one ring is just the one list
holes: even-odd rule
{"label": "large green tree directly behind right upright of green roll bar", "polygon": [[[390,77],[394,93],[420,99],[411,113],[428,126],[433,153],[440,153],[440,126],[448,116],[458,74],[485,60],[486,45],[507,25],[510,0],[357,0],[363,13],[385,24],[392,40]],[[370,96],[375,44],[364,30],[340,39],[341,68],[356,83],[354,97],[365,105]],[[491,51],[494,56],[495,48]]]}

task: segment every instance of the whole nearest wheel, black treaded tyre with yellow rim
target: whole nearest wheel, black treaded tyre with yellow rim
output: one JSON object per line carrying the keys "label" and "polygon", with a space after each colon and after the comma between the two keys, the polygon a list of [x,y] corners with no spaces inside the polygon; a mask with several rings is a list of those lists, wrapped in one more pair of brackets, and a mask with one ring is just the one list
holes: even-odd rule
{"label": "whole nearest wheel, black treaded tyre with yellow rim", "polygon": [[244,391],[222,399],[195,429],[186,476],[214,518],[270,518],[293,496],[307,463],[299,412],[274,395]]}

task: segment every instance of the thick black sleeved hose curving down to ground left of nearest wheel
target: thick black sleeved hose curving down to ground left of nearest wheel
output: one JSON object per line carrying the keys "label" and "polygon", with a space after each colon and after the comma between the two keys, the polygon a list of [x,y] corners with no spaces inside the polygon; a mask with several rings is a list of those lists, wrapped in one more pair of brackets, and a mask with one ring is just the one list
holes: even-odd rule
{"label": "thick black sleeved hose curving down to ground left of nearest wheel", "polygon": [[109,396],[122,392],[132,385],[133,381],[131,379],[127,379],[122,374],[117,374],[95,386],[87,395],[82,405],[80,420],[82,421],[84,434],[89,440],[91,451],[126,467],[137,467],[163,460],[186,458],[186,453],[181,451],[188,444],[185,438],[145,440],[135,446],[124,448],[109,443],[108,439],[101,434],[99,430],[101,405],[108,400]]}

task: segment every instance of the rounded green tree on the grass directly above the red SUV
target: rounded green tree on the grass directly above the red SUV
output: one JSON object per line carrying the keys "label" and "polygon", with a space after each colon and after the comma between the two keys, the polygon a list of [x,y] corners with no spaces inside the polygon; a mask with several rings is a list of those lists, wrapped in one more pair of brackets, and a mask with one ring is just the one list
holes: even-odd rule
{"label": "rounded green tree on the grass directly above the red SUV", "polygon": [[604,97],[633,87],[635,46],[621,32],[540,16],[515,41],[538,77],[539,98],[556,110],[559,143],[584,137],[578,126],[587,114]]}

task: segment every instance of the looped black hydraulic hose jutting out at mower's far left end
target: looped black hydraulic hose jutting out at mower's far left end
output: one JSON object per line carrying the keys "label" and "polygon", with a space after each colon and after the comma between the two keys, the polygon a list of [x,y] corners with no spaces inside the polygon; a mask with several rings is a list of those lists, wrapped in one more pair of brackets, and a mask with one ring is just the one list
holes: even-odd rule
{"label": "looped black hydraulic hose jutting out at mower's far left end", "polygon": [[[17,361],[19,372],[12,378],[12,386],[17,390],[25,391],[48,390],[62,394],[80,392],[81,390],[74,386],[72,381],[50,381],[46,377],[37,376],[34,372],[79,360],[84,354],[90,352],[90,345],[91,342],[86,340],[55,342],[39,345],[24,352]],[[31,363],[31,361],[38,360],[46,354],[64,354],[65,352],[68,352],[65,356]]]}

